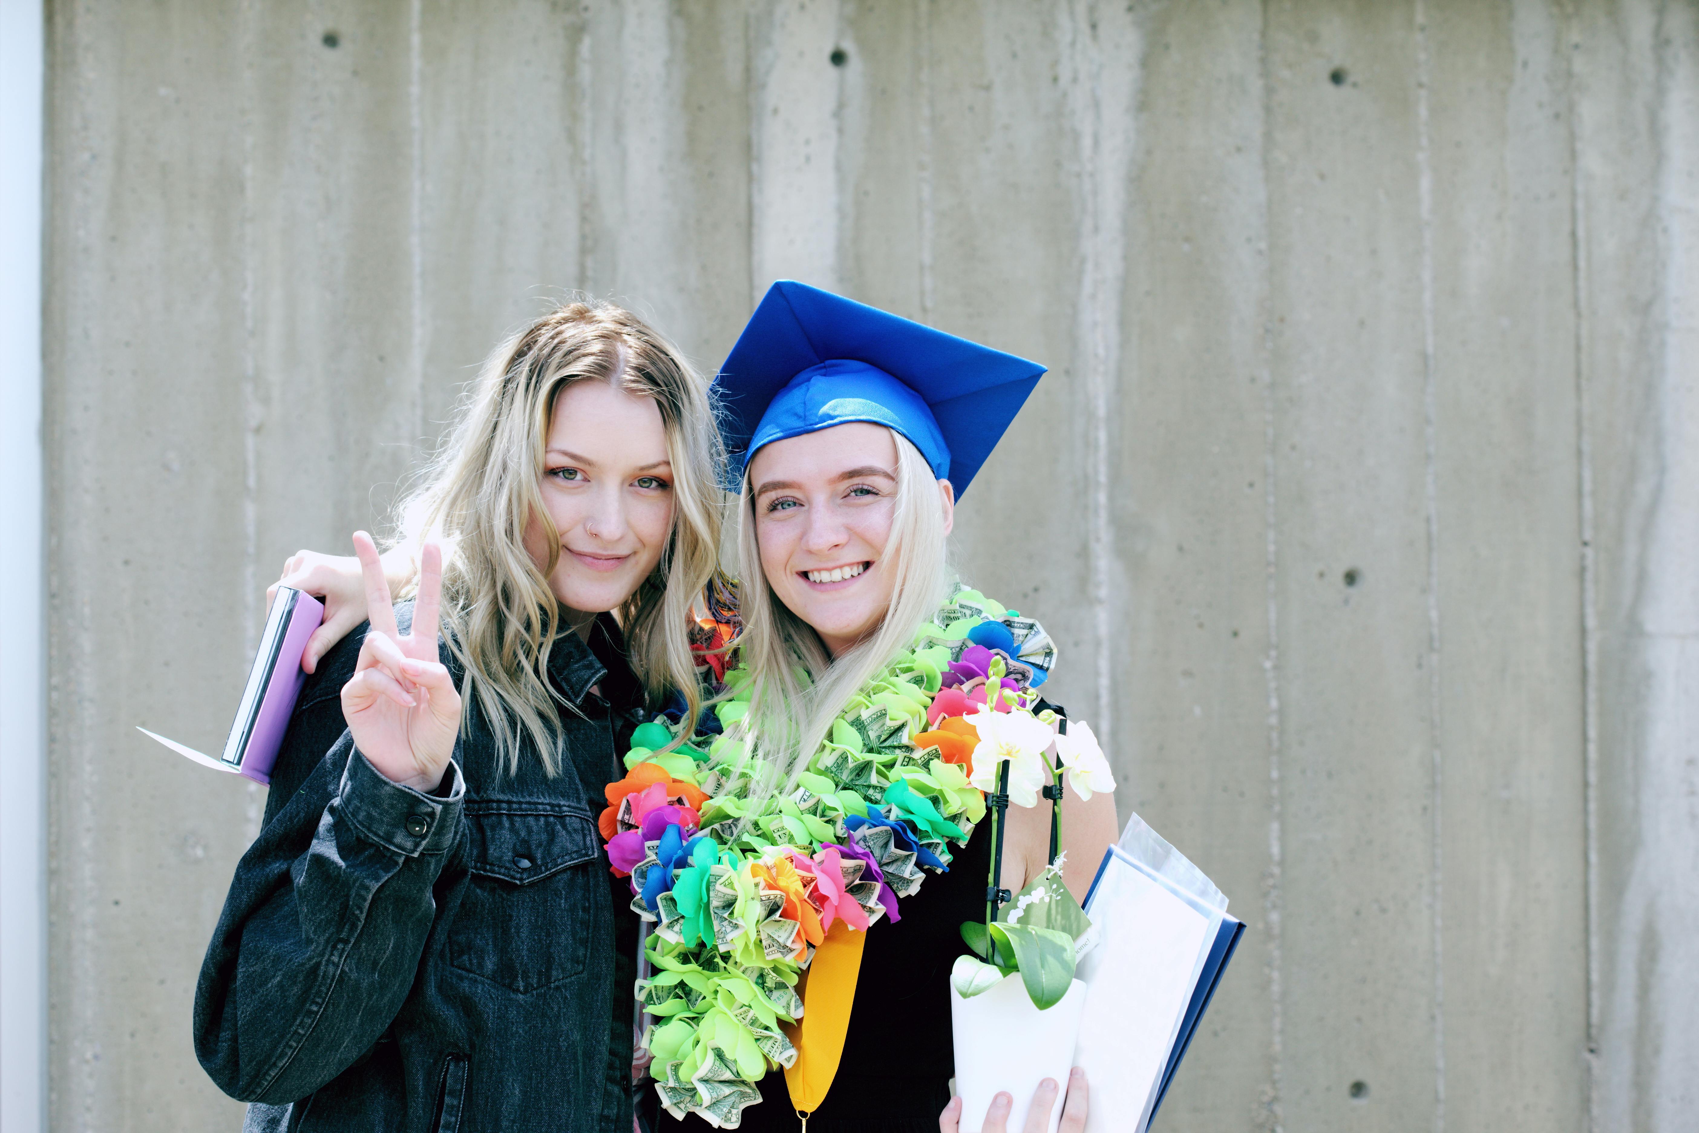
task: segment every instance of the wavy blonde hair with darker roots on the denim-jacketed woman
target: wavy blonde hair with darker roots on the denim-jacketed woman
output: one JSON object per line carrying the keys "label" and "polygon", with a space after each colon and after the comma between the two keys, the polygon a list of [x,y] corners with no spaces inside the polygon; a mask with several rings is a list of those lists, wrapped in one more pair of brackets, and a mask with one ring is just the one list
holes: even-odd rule
{"label": "wavy blonde hair with darker roots on the denim-jacketed woman", "polygon": [[[673,532],[654,572],[615,617],[651,702],[678,690],[686,719],[700,708],[686,634],[691,605],[719,566],[724,515],[708,384],[630,311],[567,302],[496,347],[449,442],[399,508],[399,542],[443,544],[442,617],[466,669],[466,712],[476,705],[483,713],[510,771],[518,771],[527,741],[549,775],[559,768],[562,698],[549,685],[549,652],[566,620],[549,576],[561,538],[540,482],[556,401],[574,382],[608,382],[652,397],[661,411],[673,464]],[[547,562],[525,550],[532,521],[544,528]]]}

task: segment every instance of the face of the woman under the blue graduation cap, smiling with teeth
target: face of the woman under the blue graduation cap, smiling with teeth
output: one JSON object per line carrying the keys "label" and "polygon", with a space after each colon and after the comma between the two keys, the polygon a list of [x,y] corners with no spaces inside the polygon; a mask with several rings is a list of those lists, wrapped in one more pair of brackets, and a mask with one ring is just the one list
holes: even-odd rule
{"label": "face of the woman under the blue graduation cap, smiling with teeth", "polygon": [[[776,440],[754,454],[749,481],[761,572],[838,657],[878,629],[897,584],[897,562],[885,555],[897,511],[895,435],[855,421]],[[950,482],[938,481],[938,491],[948,533]]]}

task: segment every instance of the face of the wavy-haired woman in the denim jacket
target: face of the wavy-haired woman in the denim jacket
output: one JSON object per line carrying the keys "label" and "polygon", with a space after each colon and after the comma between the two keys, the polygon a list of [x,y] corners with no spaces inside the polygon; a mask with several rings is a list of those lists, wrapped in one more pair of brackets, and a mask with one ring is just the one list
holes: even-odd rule
{"label": "face of the wavy-haired woman in the denim jacket", "polygon": [[[561,547],[549,589],[569,610],[613,610],[654,571],[673,530],[661,409],[608,382],[573,382],[556,394],[545,445],[539,493]],[[525,550],[547,567],[549,535],[535,518]]]}

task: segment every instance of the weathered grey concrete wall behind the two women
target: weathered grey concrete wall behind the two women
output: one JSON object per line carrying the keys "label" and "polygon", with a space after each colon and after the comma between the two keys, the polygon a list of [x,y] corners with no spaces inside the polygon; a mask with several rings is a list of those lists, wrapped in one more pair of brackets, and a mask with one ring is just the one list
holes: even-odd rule
{"label": "weathered grey concrete wall behind the two women", "polygon": [[960,559],[1249,934],[1166,1130],[1699,1102],[1682,0],[51,3],[51,1126],[236,1128],[216,746],[540,297],[1041,358]]}

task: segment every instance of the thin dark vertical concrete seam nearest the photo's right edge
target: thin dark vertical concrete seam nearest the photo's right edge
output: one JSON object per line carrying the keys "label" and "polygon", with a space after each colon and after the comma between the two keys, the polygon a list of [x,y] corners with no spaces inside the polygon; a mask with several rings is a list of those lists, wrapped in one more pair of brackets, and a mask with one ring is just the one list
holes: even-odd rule
{"label": "thin dark vertical concrete seam nearest the photo's right edge", "polygon": [[1570,270],[1575,319],[1575,464],[1580,511],[1580,613],[1582,613],[1582,810],[1585,849],[1587,946],[1587,1125],[1599,1121],[1599,589],[1594,564],[1592,401],[1587,389],[1587,212],[1582,190],[1580,105],[1575,93],[1575,53],[1580,51],[1575,12],[1565,39],[1568,49],[1570,114]]}

